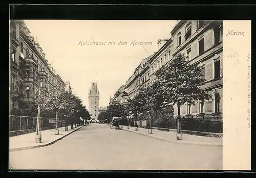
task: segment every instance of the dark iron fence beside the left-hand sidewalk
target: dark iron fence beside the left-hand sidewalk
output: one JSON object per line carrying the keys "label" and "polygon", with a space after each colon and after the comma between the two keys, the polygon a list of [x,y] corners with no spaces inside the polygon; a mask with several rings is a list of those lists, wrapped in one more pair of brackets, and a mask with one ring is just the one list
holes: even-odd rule
{"label": "dark iron fence beside the left-hand sidewalk", "polygon": [[[9,131],[24,131],[29,129],[36,129],[36,119],[37,117],[30,116],[9,116]],[[40,128],[41,130],[54,129],[55,128],[55,119],[56,118],[46,118],[40,117]],[[58,119],[58,126],[62,127],[65,125],[65,120]]]}

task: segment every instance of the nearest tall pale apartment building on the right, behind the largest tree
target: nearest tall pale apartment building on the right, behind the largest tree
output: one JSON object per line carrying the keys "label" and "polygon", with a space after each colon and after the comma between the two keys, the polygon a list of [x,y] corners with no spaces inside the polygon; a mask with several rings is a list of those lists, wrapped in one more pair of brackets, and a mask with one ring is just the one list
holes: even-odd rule
{"label": "nearest tall pale apartment building on the right, behind the largest tree", "polygon": [[[212,97],[195,105],[181,107],[182,115],[221,114],[223,103],[223,22],[217,20],[180,20],[171,32],[173,56],[183,53],[191,65],[201,68],[201,86]],[[177,115],[177,106],[174,106]]]}

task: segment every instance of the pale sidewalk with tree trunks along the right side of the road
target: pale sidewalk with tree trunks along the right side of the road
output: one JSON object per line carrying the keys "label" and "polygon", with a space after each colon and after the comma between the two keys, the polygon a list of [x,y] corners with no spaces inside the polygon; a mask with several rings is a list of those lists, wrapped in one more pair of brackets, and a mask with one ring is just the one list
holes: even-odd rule
{"label": "pale sidewalk with tree trunks along the right side of the road", "polygon": [[222,146],[222,138],[215,137],[202,137],[196,135],[182,134],[182,140],[176,139],[176,132],[166,132],[159,130],[152,130],[153,134],[148,134],[148,129],[139,128],[138,131],[135,131],[134,127],[130,126],[130,129],[127,129],[127,126],[121,128],[124,131],[134,132],[141,135],[153,137],[156,139],[173,142],[173,143],[183,143],[183,144],[195,144],[195,145],[204,145],[204,146]]}

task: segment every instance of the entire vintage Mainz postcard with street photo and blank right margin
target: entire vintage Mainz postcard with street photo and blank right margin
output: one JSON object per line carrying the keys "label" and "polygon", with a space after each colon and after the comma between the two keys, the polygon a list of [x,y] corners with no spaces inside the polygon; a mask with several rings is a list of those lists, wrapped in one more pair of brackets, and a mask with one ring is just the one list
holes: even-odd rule
{"label": "entire vintage Mainz postcard with street photo and blank right margin", "polygon": [[249,20],[10,20],[10,171],[250,170],[250,44]]}

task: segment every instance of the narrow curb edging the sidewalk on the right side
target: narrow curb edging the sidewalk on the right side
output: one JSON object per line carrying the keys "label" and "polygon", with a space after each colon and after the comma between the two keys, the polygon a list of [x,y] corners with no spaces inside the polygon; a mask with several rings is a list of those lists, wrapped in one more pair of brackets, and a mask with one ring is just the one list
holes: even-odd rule
{"label": "narrow curb edging the sidewalk on the right side", "polygon": [[134,131],[129,131],[129,130],[125,130],[125,129],[123,129],[123,131],[133,132],[133,133],[136,133],[136,134],[144,135],[144,136],[155,138],[155,139],[162,140],[162,141],[167,141],[167,142],[170,142],[170,143],[180,143],[180,144],[190,144],[190,145],[193,144],[193,145],[201,145],[201,146],[218,146],[218,147],[223,146],[223,144],[215,144],[215,143],[199,143],[199,142],[190,142],[190,141],[166,140],[166,139],[163,139],[163,138],[152,137],[150,135],[146,135],[146,134],[142,134],[142,133],[134,132]]}

